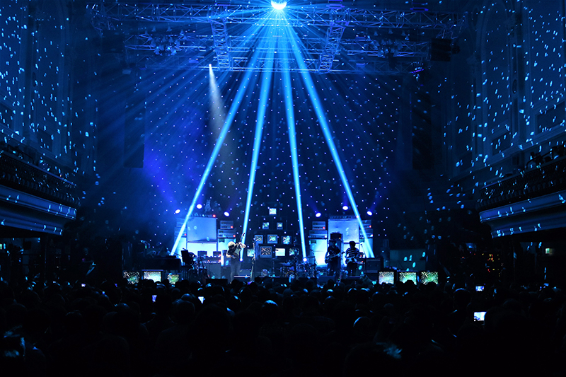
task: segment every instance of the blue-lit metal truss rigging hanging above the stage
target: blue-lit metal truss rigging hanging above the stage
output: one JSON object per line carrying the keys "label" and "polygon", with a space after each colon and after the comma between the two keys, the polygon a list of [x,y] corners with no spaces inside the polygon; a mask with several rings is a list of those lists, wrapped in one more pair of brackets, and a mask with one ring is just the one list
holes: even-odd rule
{"label": "blue-lit metal truss rigging hanging above the stage", "polygon": [[[266,64],[272,40],[248,31],[277,25],[294,29],[307,71],[403,74],[412,72],[415,64],[427,66],[430,38],[454,39],[467,26],[466,13],[328,4],[291,6],[277,13],[269,6],[95,1],[88,5],[88,13],[100,34],[103,30],[122,31],[129,63],[154,69],[174,69],[174,64],[208,69],[208,64],[213,64],[233,71],[260,71],[270,66],[274,71],[301,71],[289,59],[293,56],[290,43],[278,43],[277,59]],[[418,37],[413,40],[409,34]],[[257,64],[248,66],[253,54],[258,56]]]}

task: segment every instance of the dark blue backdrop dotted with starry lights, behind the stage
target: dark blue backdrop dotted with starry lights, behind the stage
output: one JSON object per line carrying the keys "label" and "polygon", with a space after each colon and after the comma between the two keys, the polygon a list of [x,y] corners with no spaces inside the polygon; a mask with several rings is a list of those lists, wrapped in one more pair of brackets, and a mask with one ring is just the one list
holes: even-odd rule
{"label": "dark blue backdrop dotted with starry lights, behind the stage", "polygon": [[[184,80],[177,80],[185,75]],[[208,158],[214,148],[221,122],[238,91],[240,73],[220,74],[216,79],[221,91],[221,104],[211,109],[207,72],[175,73],[159,77],[151,73],[144,87],[148,88],[144,170],[156,187],[155,206],[188,210],[197,190]],[[243,104],[214,163],[199,201],[204,207],[195,214],[204,214],[207,202],[216,216],[228,211],[230,219],[241,226],[246,206],[249,166],[253,154],[255,121],[258,111],[260,74],[253,74]],[[316,91],[325,106],[324,112],[332,128],[335,144],[345,167],[352,192],[360,211],[379,211],[385,203],[388,186],[388,159],[394,144],[394,125],[398,101],[398,84],[384,83],[369,76],[315,77]],[[267,207],[277,207],[279,216],[287,220],[287,228],[296,229],[298,216],[291,151],[287,129],[282,75],[275,74],[270,88],[265,123],[255,177],[250,227],[258,226],[267,216]],[[313,112],[308,93],[297,74],[291,74],[294,116],[296,119],[299,171],[306,219],[316,212],[323,216],[343,214],[349,204],[337,169],[330,156],[320,125]],[[151,88],[156,86],[156,90]],[[167,90],[159,88],[166,87]],[[379,105],[374,105],[379,101]],[[224,104],[224,105],[222,105]],[[166,110],[165,110],[166,109]],[[347,214],[352,214],[347,211]],[[256,221],[257,220],[257,221]]]}

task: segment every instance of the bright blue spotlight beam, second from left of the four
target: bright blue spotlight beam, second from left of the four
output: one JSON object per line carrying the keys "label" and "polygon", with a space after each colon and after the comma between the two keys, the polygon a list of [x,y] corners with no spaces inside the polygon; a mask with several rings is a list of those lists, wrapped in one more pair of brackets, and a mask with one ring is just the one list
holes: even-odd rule
{"label": "bright blue spotlight beam, second from left of the four", "polygon": [[[273,45],[271,42],[270,45]],[[271,58],[275,54],[275,48],[271,48],[268,54]],[[273,59],[267,59],[268,62],[273,62]],[[257,117],[255,119],[255,136],[253,139],[253,153],[252,163],[250,166],[250,180],[248,181],[248,197],[246,199],[246,212],[243,218],[243,231],[248,229],[248,221],[250,219],[250,208],[253,199],[253,185],[255,184],[255,170],[258,168],[258,158],[260,156],[260,145],[263,133],[263,124],[265,121],[265,110],[267,109],[267,98],[271,88],[272,79],[272,66],[266,66],[262,74],[260,103],[258,105]],[[246,240],[242,240],[246,244]]]}

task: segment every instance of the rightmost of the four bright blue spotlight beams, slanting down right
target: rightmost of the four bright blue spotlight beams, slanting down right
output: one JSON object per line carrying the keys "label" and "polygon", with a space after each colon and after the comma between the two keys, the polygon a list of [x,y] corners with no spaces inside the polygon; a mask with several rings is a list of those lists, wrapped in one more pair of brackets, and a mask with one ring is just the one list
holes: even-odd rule
{"label": "rightmost of the four bright blue spotlight beams, slanting down right", "polygon": [[[324,116],[322,103],[320,103],[320,100],[318,99],[318,93],[316,93],[316,90],[314,88],[314,82],[313,79],[311,78],[311,75],[308,74],[306,69],[304,69],[306,68],[306,66],[304,63],[304,59],[301,55],[301,50],[297,46],[297,42],[296,42],[297,36],[294,33],[294,30],[292,30],[291,28],[286,28],[286,30],[287,30],[287,35],[289,37],[288,40],[292,45],[292,50],[294,52],[296,62],[297,64],[299,64],[299,66],[301,66],[302,69],[301,76],[305,83],[309,97],[311,98],[311,103],[313,104],[314,110],[316,112],[316,117],[318,118],[318,122],[320,123],[320,129],[322,129],[323,131],[324,137],[326,139],[326,144],[328,145],[328,149],[330,149],[330,154],[333,157],[334,164],[338,170],[338,174],[340,175],[340,180],[342,180],[342,186],[346,191],[346,195],[348,197],[348,200],[350,201],[350,206],[354,210],[354,215],[356,215],[359,228],[362,230],[362,234],[364,236],[364,242],[367,242],[369,238],[367,237],[366,230],[364,229],[364,225],[362,224],[362,217],[359,216],[356,200],[354,199],[354,195],[352,194],[352,189],[350,188],[350,182],[348,182],[348,178],[346,177],[344,167],[342,166],[342,161],[340,161],[340,156],[338,155],[336,145],[334,144],[332,134],[330,133],[330,125],[328,124],[328,122],[326,121],[326,117]],[[367,250],[366,256],[374,257],[373,250]]]}

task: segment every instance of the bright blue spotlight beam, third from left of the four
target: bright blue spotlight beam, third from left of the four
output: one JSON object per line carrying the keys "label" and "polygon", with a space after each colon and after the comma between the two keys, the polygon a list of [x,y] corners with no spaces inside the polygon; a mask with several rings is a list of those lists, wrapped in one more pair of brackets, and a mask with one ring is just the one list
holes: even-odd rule
{"label": "bright blue spotlight beam, third from left of the four", "polygon": [[[285,59],[287,61],[287,59]],[[289,69],[283,71],[283,91],[285,95],[285,108],[287,109],[287,127],[289,128],[289,147],[291,149],[291,163],[293,165],[293,181],[295,183],[296,209],[299,215],[299,234],[301,236],[301,250],[303,259],[306,258],[305,227],[303,221],[303,206],[301,200],[301,182],[299,177],[299,157],[296,148],[295,114],[293,108],[293,93],[291,91],[291,74]]]}

